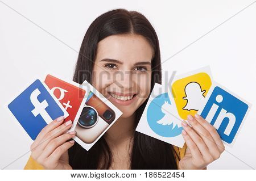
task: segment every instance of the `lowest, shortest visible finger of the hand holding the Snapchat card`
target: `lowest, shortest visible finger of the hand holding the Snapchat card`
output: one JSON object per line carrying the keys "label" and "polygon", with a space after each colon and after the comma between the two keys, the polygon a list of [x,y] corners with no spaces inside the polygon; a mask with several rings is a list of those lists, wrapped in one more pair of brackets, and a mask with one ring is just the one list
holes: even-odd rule
{"label": "lowest, shortest visible finger of the hand holding the Snapchat card", "polygon": [[197,148],[195,142],[193,142],[193,140],[191,139],[191,137],[187,134],[187,132],[185,132],[184,130],[182,131],[182,136],[185,140],[185,143],[187,144],[188,148],[191,151],[192,157],[200,160],[202,159],[202,155],[200,153],[200,150]]}

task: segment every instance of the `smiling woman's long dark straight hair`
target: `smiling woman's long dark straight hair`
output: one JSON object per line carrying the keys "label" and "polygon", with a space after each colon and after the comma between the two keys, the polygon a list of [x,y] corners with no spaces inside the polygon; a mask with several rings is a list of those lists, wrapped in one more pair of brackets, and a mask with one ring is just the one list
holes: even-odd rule
{"label": "smiling woman's long dark straight hair", "polygon": [[[80,84],[85,80],[92,82],[92,70],[99,41],[111,35],[129,33],[142,35],[154,49],[151,62],[152,91],[155,83],[162,82],[158,37],[142,14],[125,9],[108,11],[90,24],[81,44],[73,81]],[[147,100],[135,112],[135,126],[138,125]],[[130,169],[177,169],[176,159],[179,159],[179,155],[166,142],[135,131],[131,150]],[[112,162],[112,153],[104,136],[89,151],[75,143],[68,153],[69,164],[73,169],[109,169]],[[103,163],[101,166],[100,162]]]}

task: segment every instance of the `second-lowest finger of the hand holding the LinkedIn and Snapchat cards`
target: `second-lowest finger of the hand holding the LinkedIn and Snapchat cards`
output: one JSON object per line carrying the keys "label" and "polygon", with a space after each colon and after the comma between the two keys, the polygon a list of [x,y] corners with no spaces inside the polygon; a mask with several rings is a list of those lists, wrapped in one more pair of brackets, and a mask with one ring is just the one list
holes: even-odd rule
{"label": "second-lowest finger of the hand holding the LinkedIn and Snapchat cards", "polygon": [[204,160],[207,162],[212,161],[212,155],[210,154],[209,149],[205,145],[203,139],[191,127],[189,127],[189,125],[185,123],[185,121],[182,122],[182,127],[185,130],[185,132],[187,132],[188,135],[191,137],[193,142],[195,142]]}

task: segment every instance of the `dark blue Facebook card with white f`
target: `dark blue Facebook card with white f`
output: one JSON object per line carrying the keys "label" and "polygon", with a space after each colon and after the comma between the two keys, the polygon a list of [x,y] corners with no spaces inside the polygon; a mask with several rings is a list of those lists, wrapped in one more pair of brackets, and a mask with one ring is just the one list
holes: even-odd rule
{"label": "dark blue Facebook card with white f", "polygon": [[8,108],[32,140],[52,120],[68,116],[68,112],[39,79],[19,94]]}

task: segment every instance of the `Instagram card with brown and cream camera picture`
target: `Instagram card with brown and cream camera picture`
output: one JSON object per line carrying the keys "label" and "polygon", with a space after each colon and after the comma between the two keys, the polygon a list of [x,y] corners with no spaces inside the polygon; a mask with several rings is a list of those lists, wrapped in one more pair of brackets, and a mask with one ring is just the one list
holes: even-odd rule
{"label": "Instagram card with brown and cream camera picture", "polygon": [[73,123],[76,131],[73,140],[89,150],[117,121],[122,112],[87,81],[82,83],[82,87],[86,87],[89,95],[79,119]]}

